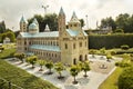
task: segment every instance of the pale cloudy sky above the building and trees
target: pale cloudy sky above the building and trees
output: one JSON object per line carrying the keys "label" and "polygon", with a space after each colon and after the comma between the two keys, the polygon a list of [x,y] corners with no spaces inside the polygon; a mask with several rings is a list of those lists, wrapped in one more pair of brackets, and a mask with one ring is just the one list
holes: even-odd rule
{"label": "pale cloudy sky above the building and trees", "polygon": [[75,11],[79,19],[84,19],[88,28],[95,28],[96,21],[100,24],[101,19],[106,17],[114,19],[120,13],[133,14],[133,0],[0,0],[0,21],[4,20],[7,28],[13,31],[19,30],[22,16],[25,19],[34,14],[44,16],[42,6],[49,6],[47,13],[59,13],[62,7],[66,22]]}

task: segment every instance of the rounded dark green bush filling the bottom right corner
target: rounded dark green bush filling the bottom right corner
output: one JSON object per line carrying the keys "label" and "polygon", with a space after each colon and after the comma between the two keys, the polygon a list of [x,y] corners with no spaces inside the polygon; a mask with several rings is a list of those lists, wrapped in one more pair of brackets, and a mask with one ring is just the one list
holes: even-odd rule
{"label": "rounded dark green bush filling the bottom right corner", "polygon": [[126,68],[119,77],[119,89],[133,89],[133,67]]}

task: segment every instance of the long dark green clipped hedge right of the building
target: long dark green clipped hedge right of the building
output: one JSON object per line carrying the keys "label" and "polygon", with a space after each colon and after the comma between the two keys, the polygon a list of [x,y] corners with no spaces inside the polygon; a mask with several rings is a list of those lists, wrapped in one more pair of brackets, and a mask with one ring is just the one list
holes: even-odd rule
{"label": "long dark green clipped hedge right of the building", "polygon": [[123,44],[133,47],[133,33],[89,34],[89,49],[112,49]]}

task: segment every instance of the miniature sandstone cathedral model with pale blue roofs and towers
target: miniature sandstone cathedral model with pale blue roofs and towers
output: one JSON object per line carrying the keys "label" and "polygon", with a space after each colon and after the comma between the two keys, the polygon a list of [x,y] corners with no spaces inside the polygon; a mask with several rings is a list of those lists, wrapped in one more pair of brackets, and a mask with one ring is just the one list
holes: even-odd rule
{"label": "miniature sandstone cathedral model with pale blue roofs and towers", "polygon": [[17,38],[18,52],[35,55],[40,59],[61,61],[65,65],[75,65],[88,59],[88,34],[82,30],[81,23],[73,12],[65,28],[65,14],[60,9],[58,17],[58,31],[50,31],[45,26],[44,32],[39,32],[37,19],[28,27],[22,17],[20,20],[20,34]]}

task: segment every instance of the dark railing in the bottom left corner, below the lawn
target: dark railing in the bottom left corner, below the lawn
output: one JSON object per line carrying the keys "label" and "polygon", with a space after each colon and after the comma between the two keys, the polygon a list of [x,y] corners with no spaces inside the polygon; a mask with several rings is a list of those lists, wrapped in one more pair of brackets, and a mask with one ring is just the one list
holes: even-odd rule
{"label": "dark railing in the bottom left corner, below the lawn", "polygon": [[11,81],[0,78],[0,89],[23,89],[23,88],[14,83],[11,83]]}

